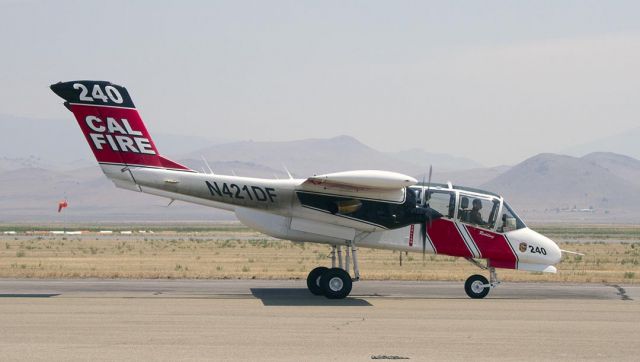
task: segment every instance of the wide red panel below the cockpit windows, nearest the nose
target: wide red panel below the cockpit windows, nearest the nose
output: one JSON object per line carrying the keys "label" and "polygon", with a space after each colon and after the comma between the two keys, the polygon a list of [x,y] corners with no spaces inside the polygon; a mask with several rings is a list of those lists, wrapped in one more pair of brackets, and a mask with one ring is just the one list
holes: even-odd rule
{"label": "wide red panel below the cockpit windows, nearest the nose", "polygon": [[478,229],[471,225],[464,226],[473,241],[480,249],[482,257],[489,259],[490,265],[496,268],[516,269],[517,258],[504,235]]}

